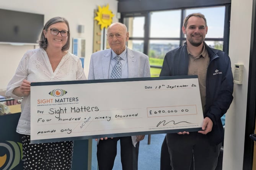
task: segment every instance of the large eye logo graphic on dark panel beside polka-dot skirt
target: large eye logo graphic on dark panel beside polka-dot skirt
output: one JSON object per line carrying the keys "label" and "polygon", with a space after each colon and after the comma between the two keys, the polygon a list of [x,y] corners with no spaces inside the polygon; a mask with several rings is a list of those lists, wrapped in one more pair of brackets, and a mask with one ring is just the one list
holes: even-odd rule
{"label": "large eye logo graphic on dark panel beside polka-dot skirt", "polygon": [[0,169],[12,170],[23,158],[22,144],[20,142],[0,142]]}

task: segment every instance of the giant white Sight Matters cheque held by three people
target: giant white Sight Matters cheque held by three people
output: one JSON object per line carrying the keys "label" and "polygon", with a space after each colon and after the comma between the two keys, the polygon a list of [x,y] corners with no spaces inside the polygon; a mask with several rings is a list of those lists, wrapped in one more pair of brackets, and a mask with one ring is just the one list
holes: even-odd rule
{"label": "giant white Sight Matters cheque held by three people", "polygon": [[31,83],[31,143],[198,131],[197,76]]}

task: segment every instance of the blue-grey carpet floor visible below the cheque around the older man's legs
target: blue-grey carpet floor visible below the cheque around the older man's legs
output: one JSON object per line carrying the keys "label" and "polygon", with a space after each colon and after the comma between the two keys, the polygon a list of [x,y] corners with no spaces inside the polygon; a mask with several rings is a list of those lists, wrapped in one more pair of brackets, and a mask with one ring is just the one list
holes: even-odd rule
{"label": "blue-grey carpet floor visible below the cheque around the older man's legs", "polygon": [[[152,134],[150,138],[150,144],[148,144],[148,135],[145,136],[145,139],[140,141],[138,170],[160,169],[160,152],[164,137],[165,134]],[[91,170],[98,170],[96,145],[97,142],[93,141]],[[119,142],[117,143],[117,155],[113,170],[122,170]]]}

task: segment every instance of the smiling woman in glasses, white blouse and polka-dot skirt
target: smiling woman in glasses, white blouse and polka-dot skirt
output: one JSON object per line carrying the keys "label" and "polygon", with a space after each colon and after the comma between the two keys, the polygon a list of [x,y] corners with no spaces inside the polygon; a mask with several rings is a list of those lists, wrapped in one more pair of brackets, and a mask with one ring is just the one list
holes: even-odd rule
{"label": "smiling woman in glasses, white blouse and polka-dot skirt", "polygon": [[23,100],[16,129],[23,134],[24,170],[70,170],[73,141],[30,144],[30,82],[86,79],[80,59],[69,53],[68,21],[55,17],[45,24],[39,49],[29,50],[21,59],[7,86],[6,96]]}

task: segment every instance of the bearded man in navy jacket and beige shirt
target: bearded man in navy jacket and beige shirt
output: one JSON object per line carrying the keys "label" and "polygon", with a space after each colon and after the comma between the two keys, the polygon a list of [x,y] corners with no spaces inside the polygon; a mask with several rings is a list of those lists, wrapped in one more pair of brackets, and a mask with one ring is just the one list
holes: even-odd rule
{"label": "bearded man in navy jacket and beige shirt", "polygon": [[171,168],[189,170],[194,160],[195,170],[215,170],[223,140],[220,118],[233,100],[230,58],[205,44],[208,27],[201,13],[188,15],[182,31],[186,42],[166,53],[160,76],[198,76],[204,121],[201,131],[166,135]]}

